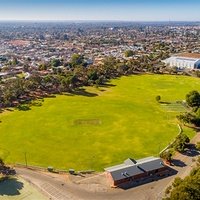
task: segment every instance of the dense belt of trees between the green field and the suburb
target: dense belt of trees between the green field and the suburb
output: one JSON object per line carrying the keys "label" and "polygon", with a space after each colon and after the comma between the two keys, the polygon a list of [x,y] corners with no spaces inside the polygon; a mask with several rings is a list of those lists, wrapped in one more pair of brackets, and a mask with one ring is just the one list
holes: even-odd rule
{"label": "dense belt of trees between the green field and the suburb", "polygon": [[[128,61],[106,57],[98,66],[88,65],[84,56],[79,54],[74,54],[68,63],[53,59],[42,63],[37,71],[32,70],[28,79],[15,77],[1,80],[0,107],[16,106],[37,98],[38,94],[73,92],[82,86],[104,85],[113,78],[147,71],[149,62],[147,56]],[[157,70],[156,67],[155,72]],[[34,95],[36,92],[37,95]]]}

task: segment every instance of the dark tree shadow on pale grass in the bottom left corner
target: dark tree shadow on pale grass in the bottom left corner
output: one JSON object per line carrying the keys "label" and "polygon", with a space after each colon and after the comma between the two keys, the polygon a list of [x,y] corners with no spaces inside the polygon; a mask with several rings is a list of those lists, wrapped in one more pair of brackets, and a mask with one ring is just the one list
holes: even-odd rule
{"label": "dark tree shadow on pale grass in the bottom left corner", "polygon": [[0,182],[0,196],[20,195],[20,190],[23,187],[24,187],[24,184],[18,181],[16,178],[6,179]]}

